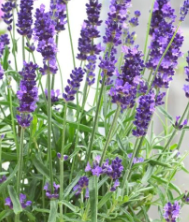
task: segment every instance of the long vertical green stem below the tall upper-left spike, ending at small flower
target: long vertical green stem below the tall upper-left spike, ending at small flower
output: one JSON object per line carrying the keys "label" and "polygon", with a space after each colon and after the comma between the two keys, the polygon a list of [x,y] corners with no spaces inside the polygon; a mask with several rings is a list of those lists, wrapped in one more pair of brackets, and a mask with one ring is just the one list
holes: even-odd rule
{"label": "long vertical green stem below the tall upper-left spike, ending at small flower", "polygon": [[47,100],[47,115],[48,115],[48,162],[49,162],[49,174],[50,174],[50,187],[53,191],[53,168],[52,168],[52,152],[51,152],[51,73],[47,72],[47,90],[48,90],[48,100]]}

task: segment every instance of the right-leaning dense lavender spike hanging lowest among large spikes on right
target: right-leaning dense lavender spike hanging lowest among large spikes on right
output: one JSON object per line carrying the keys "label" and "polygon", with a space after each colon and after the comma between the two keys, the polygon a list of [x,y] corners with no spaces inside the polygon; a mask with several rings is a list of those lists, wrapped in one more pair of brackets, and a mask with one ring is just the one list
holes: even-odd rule
{"label": "right-leaning dense lavender spike hanging lowest among large spikes on right", "polygon": [[139,107],[136,109],[135,121],[136,128],[133,135],[136,137],[145,136],[148,125],[155,109],[155,94],[150,92],[148,95],[141,96],[139,99]]}

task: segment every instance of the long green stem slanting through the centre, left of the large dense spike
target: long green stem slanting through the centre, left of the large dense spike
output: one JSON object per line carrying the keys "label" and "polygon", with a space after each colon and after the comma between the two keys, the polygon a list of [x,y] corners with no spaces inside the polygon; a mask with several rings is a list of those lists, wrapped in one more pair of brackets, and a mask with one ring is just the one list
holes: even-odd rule
{"label": "long green stem slanting through the centre, left of the large dense spike", "polygon": [[100,94],[99,94],[98,103],[97,103],[97,107],[96,107],[95,119],[94,119],[94,123],[93,123],[92,135],[91,135],[91,139],[90,139],[90,143],[89,143],[89,147],[88,147],[86,163],[88,162],[88,160],[90,158],[90,155],[91,155],[91,150],[92,150],[92,146],[93,146],[93,140],[94,140],[97,124],[98,124],[100,103],[101,103],[102,94],[103,94],[103,91],[104,91],[105,82],[106,82],[106,76],[104,75],[104,77],[102,79],[102,86],[101,86],[101,89],[100,89]]}

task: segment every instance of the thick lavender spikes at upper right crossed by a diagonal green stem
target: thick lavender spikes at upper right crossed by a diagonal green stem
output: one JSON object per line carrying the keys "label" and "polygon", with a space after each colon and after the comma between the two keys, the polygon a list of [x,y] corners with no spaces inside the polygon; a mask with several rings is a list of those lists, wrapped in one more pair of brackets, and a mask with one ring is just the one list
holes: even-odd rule
{"label": "thick lavender spikes at upper right crossed by a diagonal green stem", "polygon": [[[169,0],[155,1],[150,29],[150,35],[152,36],[150,58],[146,64],[147,68],[152,71],[156,69],[167,45],[173,37],[175,32],[173,22],[175,18],[175,11],[171,8]],[[174,69],[178,64],[178,58],[182,55],[180,49],[183,40],[183,36],[178,32],[158,69],[153,82],[154,87],[169,87],[169,82],[174,75]]]}

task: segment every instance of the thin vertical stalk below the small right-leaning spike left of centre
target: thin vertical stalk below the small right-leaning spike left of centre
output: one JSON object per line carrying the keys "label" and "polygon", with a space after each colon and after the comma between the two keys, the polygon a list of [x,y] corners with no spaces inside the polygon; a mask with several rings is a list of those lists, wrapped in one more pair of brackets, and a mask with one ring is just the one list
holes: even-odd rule
{"label": "thin vertical stalk below the small right-leaning spike left of centre", "polygon": [[[65,145],[65,134],[66,134],[66,113],[67,113],[67,102],[64,106],[64,119],[63,119],[63,130],[62,130],[62,144],[61,144],[61,158],[60,158],[60,200],[63,200],[63,191],[64,191],[64,145]],[[61,221],[63,215],[63,205],[59,205]]]}

